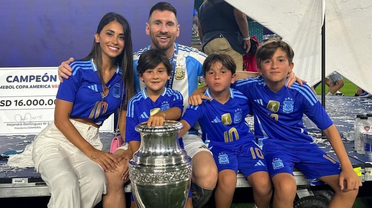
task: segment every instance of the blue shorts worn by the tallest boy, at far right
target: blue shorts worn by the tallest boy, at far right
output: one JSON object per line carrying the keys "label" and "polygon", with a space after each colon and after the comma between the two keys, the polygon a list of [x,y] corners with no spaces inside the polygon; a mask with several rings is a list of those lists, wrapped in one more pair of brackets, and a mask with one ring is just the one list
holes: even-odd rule
{"label": "blue shorts worn by the tallest boy, at far right", "polygon": [[320,148],[312,149],[272,149],[263,146],[267,168],[270,177],[278,173],[293,175],[293,167],[300,170],[311,181],[323,176],[338,175],[341,172],[340,163],[326,154]]}

